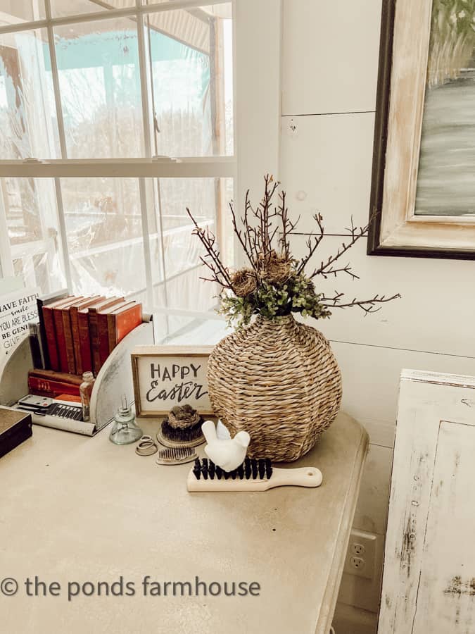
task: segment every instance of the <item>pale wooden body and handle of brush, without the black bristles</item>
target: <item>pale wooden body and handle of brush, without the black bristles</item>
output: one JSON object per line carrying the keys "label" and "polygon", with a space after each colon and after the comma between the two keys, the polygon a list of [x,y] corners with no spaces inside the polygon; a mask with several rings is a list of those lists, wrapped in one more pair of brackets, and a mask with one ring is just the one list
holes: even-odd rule
{"label": "pale wooden body and handle of brush, without the black bristles", "polygon": [[267,491],[274,487],[319,487],[322,484],[322,471],[316,467],[300,467],[296,469],[273,469],[270,480],[199,480],[193,473],[188,474],[186,486],[189,491]]}

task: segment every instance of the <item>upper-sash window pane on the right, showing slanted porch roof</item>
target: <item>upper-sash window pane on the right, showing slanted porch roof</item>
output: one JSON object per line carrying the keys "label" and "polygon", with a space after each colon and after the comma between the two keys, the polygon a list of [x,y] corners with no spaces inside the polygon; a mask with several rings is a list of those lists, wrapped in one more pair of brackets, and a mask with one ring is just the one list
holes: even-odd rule
{"label": "upper-sash window pane on the right, showing slanted porch roof", "polygon": [[233,153],[230,7],[146,15],[155,154]]}

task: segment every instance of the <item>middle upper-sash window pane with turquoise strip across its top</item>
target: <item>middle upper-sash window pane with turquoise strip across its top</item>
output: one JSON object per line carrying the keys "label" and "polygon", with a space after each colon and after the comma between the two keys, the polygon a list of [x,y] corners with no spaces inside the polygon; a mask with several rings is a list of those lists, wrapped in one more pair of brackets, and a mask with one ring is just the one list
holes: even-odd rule
{"label": "middle upper-sash window pane with turquoise strip across its top", "polygon": [[55,44],[68,158],[143,156],[136,23],[57,27]]}

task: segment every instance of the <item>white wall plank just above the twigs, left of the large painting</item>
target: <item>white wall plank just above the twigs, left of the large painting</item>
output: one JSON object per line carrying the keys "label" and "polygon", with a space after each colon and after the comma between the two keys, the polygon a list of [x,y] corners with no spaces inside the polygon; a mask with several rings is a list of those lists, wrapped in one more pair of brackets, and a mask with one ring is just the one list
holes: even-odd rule
{"label": "white wall plank just above the twigs, left of the large painting", "polygon": [[342,233],[368,221],[374,113],[282,117],[280,179],[298,231]]}

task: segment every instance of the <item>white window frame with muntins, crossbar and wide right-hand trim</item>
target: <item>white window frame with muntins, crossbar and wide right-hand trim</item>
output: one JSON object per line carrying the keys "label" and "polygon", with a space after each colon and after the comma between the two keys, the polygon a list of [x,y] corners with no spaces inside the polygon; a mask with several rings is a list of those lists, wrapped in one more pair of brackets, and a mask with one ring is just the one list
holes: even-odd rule
{"label": "white window frame with muntins, crossbar and wide right-hand trim", "polygon": [[[51,17],[51,0],[44,0],[46,18],[32,22],[15,23],[0,27],[0,35],[44,28],[49,35],[49,51],[56,113],[61,147],[61,159],[0,160],[0,178],[53,178],[56,184],[58,224],[60,230],[65,277],[68,289],[72,289],[68,242],[65,232],[65,214],[61,199],[59,179],[63,177],[137,178],[141,205],[142,235],[148,304],[153,310],[151,257],[149,253],[148,216],[146,209],[146,178],[233,178],[234,197],[243,201],[246,189],[260,198],[262,176],[273,173],[278,178],[279,137],[281,113],[280,51],[281,51],[281,0],[169,0],[159,4],[141,4],[130,8],[108,9],[94,13],[82,13],[61,18]],[[147,82],[146,42],[144,15],[180,8],[196,8],[203,5],[232,3],[233,60],[234,60],[234,156],[157,158],[152,154]],[[59,89],[56,50],[53,43],[53,27],[100,21],[104,19],[137,15],[139,67],[141,80],[142,120],[144,123],[145,156],[141,159],[68,159],[61,92]],[[237,98],[236,98],[237,96]],[[0,202],[1,205],[1,202]],[[239,210],[240,204],[236,204]],[[5,214],[0,207],[0,276],[13,274],[8,235],[2,228]],[[5,220],[3,220],[5,222]],[[191,230],[190,225],[190,230]],[[235,264],[239,264],[237,254]],[[165,309],[167,313],[188,314],[190,311]],[[191,314],[191,313],[190,313]]]}

